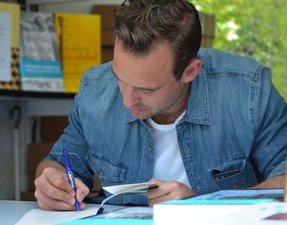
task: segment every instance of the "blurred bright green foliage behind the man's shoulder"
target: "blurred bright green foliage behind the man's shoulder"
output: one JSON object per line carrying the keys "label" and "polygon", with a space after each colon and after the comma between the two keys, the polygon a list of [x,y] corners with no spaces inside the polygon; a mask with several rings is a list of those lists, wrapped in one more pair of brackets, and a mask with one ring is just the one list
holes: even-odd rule
{"label": "blurred bright green foliage behind the man's shoulder", "polygon": [[189,0],[216,17],[213,47],[253,57],[272,70],[272,82],[287,100],[286,0]]}

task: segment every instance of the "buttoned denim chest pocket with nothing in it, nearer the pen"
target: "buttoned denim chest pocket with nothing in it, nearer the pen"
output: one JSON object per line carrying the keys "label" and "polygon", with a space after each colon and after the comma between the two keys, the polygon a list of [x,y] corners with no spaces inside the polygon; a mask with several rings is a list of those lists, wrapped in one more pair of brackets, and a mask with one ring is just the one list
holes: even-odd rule
{"label": "buttoned denim chest pocket with nothing in it, nearer the pen", "polygon": [[123,163],[116,162],[107,156],[90,153],[87,161],[94,173],[101,180],[102,186],[113,186],[123,183],[128,168]]}

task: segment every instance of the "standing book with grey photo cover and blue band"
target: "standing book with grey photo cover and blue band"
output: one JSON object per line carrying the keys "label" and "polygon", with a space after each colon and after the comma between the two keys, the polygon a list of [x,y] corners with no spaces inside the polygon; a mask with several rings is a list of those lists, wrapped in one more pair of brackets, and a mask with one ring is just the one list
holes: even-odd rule
{"label": "standing book with grey photo cover and blue band", "polygon": [[52,13],[21,12],[20,78],[24,91],[64,91]]}

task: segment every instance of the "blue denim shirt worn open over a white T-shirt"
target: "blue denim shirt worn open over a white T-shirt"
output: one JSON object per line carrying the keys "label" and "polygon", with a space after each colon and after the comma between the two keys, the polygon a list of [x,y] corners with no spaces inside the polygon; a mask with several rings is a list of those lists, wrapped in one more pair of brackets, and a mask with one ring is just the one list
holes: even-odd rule
{"label": "blue denim shirt worn open over a white T-shirt", "polygon": [[[202,69],[191,83],[177,139],[194,192],[247,188],[285,174],[287,106],[271,72],[255,60],[201,48]],[[63,163],[69,152],[75,177],[89,188],[146,182],[153,176],[155,141],[146,120],[123,105],[112,62],[82,76],[69,126],[46,159]],[[131,65],[132,66],[132,65]],[[173,162],[166,162],[171,164]],[[216,177],[220,172],[236,174]],[[108,193],[105,193],[109,195]],[[145,196],[123,195],[110,204],[148,204]]]}

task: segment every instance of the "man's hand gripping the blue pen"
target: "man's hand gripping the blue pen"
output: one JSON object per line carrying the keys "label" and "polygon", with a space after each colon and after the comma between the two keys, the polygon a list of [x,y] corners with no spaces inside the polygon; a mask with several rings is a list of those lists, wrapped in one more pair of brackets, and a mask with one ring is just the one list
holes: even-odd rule
{"label": "man's hand gripping the blue pen", "polygon": [[80,210],[85,208],[82,200],[89,194],[89,188],[75,178],[77,191],[69,183],[67,172],[62,165],[53,161],[43,161],[37,168],[35,197],[44,210],[76,210],[75,195]]}

